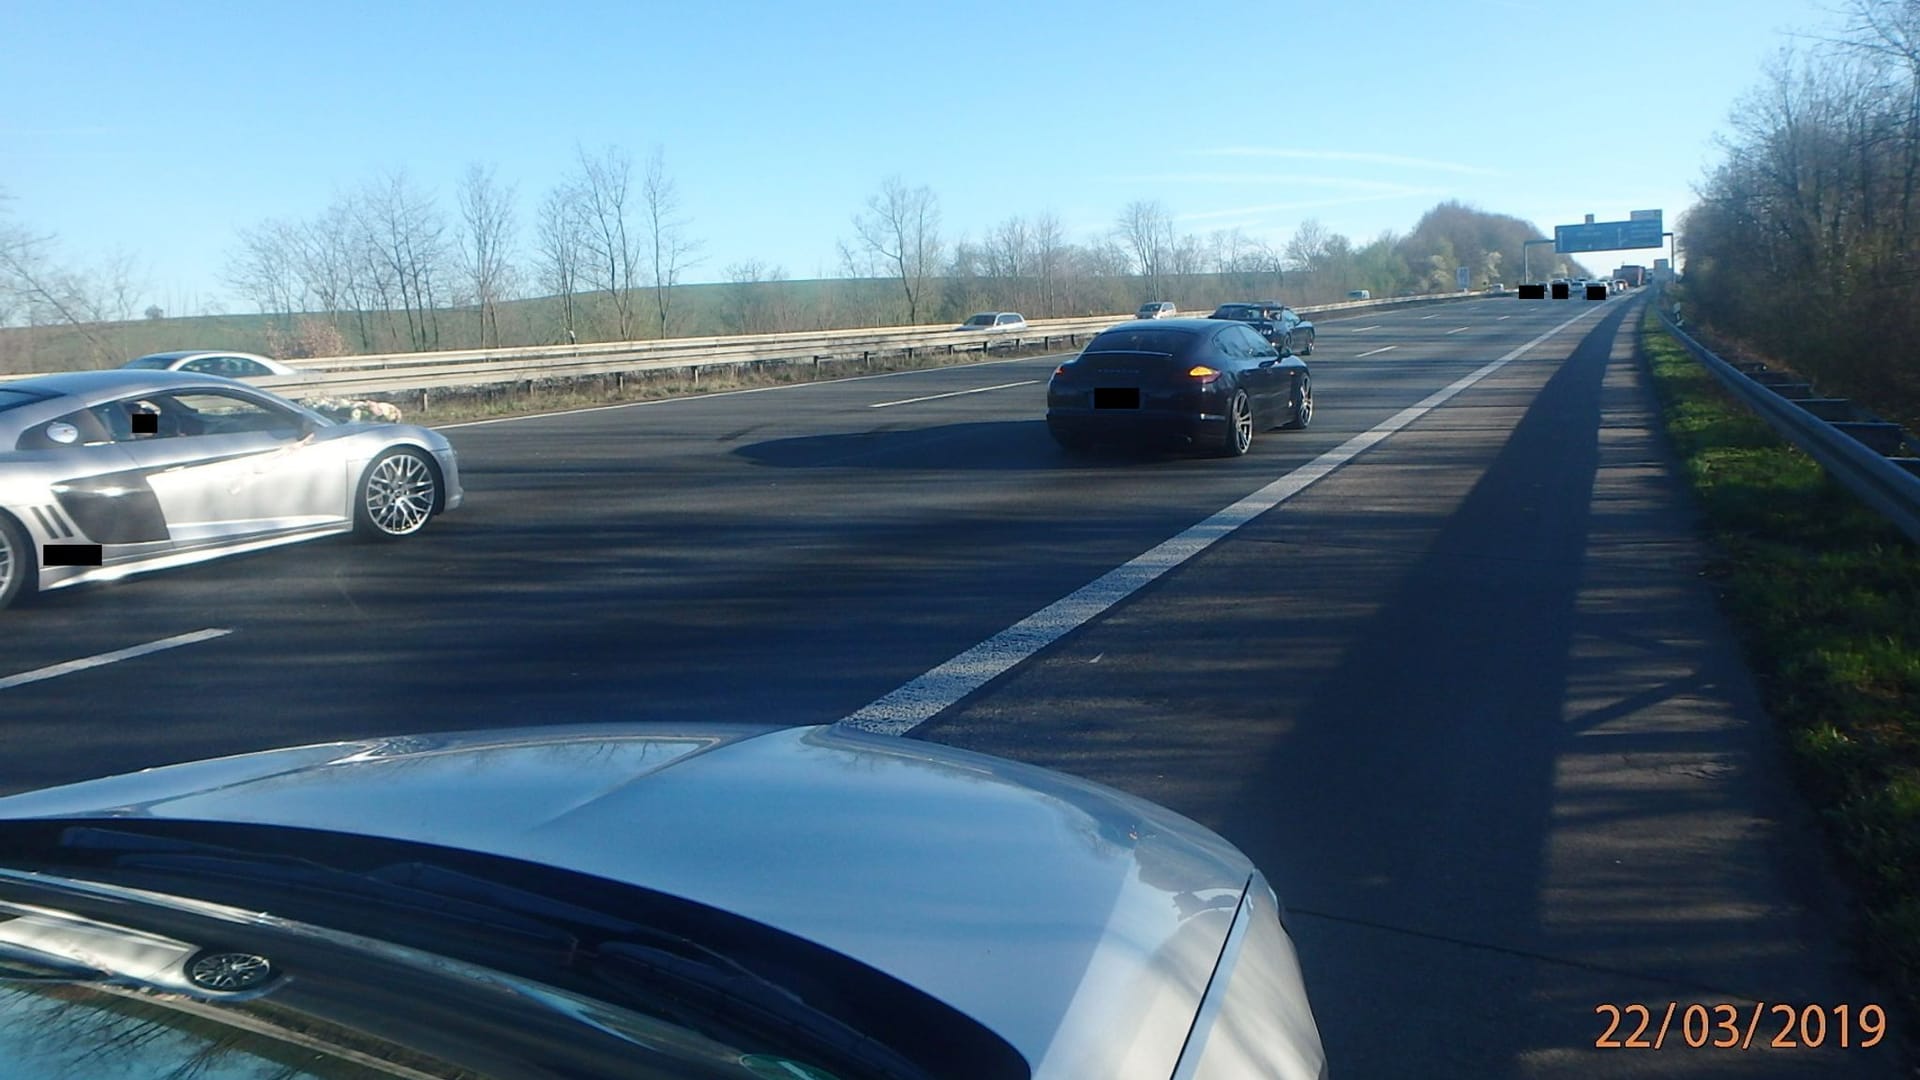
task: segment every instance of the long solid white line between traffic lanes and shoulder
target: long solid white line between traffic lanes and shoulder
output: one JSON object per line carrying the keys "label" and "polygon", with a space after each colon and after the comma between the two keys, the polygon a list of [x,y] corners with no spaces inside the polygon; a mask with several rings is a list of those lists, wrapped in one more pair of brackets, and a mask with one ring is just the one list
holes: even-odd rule
{"label": "long solid white line between traffic lanes and shoulder", "polygon": [[1142,586],[1160,578],[1160,575],[1179,567],[1187,559],[1192,559],[1200,552],[1212,548],[1217,540],[1231,536],[1236,528],[1254,521],[1261,513],[1281,505],[1283,502],[1298,496],[1313,482],[1325,479],[1329,473],[1346,465],[1359,454],[1367,452],[1386,436],[1407,427],[1409,423],[1425,417],[1436,407],[1444,405],[1450,398],[1467,390],[1475,382],[1486,379],[1488,375],[1500,371],[1515,357],[1523,356],[1526,350],[1538,346],[1540,342],[1551,338],[1553,334],[1565,331],[1567,327],[1584,319],[1586,313],[1574,315],[1565,323],[1553,327],[1551,331],[1540,334],[1538,338],[1515,348],[1513,352],[1501,356],[1484,367],[1463,375],[1450,382],[1448,386],[1434,390],[1421,404],[1400,409],[1392,417],[1380,421],[1371,430],[1356,434],[1354,438],[1342,442],[1340,446],[1321,454],[1313,461],[1294,469],[1292,473],[1273,480],[1271,484],[1260,488],[1258,492],[1246,496],[1244,500],[1229,505],[1227,509],[1208,517],[1200,525],[1181,532],[1179,536],[1162,542],[1150,552],[1133,557],[1131,561],[1114,567],[1112,571],[1100,575],[1089,584],[1073,590],[1071,594],[1048,603],[1046,607],[1027,615],[1020,623],[1000,630],[998,634],[987,638],[985,642],[966,650],[964,653],[941,663],[939,667],[927,671],[925,675],[906,682],[904,686],[891,690],[876,701],[860,707],[856,713],[841,719],[841,724],[851,728],[874,732],[874,734],[908,734],[920,724],[931,721],[941,711],[945,711],[954,701],[966,698],[968,694],[979,690],[981,686],[993,682],[1000,675],[1006,675],[1014,665],[1031,657],[1033,653],[1044,650],[1046,646],[1058,642],[1066,634],[1077,630],[1087,621],[1102,615],[1108,607],[1114,607],[1121,600],[1127,600]]}

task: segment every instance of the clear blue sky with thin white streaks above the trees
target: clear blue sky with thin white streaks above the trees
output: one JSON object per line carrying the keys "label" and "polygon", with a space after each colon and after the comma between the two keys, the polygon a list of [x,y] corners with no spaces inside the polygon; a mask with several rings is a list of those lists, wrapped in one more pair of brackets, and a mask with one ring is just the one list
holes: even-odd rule
{"label": "clear blue sky with thin white streaks above the trees", "polygon": [[609,144],[662,148],[697,281],[835,271],[893,173],[948,238],[1050,209],[1081,240],[1140,198],[1275,244],[1444,198],[1670,227],[1763,63],[1832,23],[1809,0],[12,0],[0,190],[65,261],[131,254],[173,313],[244,309],[221,279],[240,227],[390,169],[451,217],[467,163],[493,165],[524,240],[576,148]]}

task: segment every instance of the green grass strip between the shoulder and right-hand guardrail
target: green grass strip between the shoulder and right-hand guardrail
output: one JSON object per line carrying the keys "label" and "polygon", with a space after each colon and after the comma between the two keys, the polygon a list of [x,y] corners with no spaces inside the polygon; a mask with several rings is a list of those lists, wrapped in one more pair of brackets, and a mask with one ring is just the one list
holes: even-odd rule
{"label": "green grass strip between the shoulder and right-hand guardrail", "polygon": [[1860,953],[1920,1019],[1920,548],[1728,396],[1649,309],[1667,432],[1720,603],[1862,905]]}

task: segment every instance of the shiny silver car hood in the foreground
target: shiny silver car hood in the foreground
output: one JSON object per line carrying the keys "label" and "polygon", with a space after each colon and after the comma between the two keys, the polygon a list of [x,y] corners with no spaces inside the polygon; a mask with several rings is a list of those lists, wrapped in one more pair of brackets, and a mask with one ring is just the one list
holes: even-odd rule
{"label": "shiny silver car hood in the foreground", "polygon": [[[1046,1078],[1171,1076],[1242,894],[1267,894],[1233,846],[1142,799],[831,726],[338,742],[0,799],[8,819],[69,815],[326,828],[643,884],[904,978]],[[1313,1076],[1281,940],[1261,1026],[1311,1049],[1263,1072]]]}

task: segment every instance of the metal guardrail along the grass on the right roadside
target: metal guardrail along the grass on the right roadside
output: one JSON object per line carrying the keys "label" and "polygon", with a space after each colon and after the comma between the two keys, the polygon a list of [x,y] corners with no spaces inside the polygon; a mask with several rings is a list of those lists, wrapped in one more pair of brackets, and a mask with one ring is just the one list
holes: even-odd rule
{"label": "metal guardrail along the grass on the right roadside", "polygon": [[1743,365],[1751,367],[1743,371],[1693,340],[1665,309],[1659,317],[1674,340],[1782,438],[1920,544],[1920,473],[1914,473],[1920,457],[1912,455],[1914,440],[1899,425],[1878,421],[1843,398],[1816,398],[1812,384],[1766,371],[1766,365]]}

